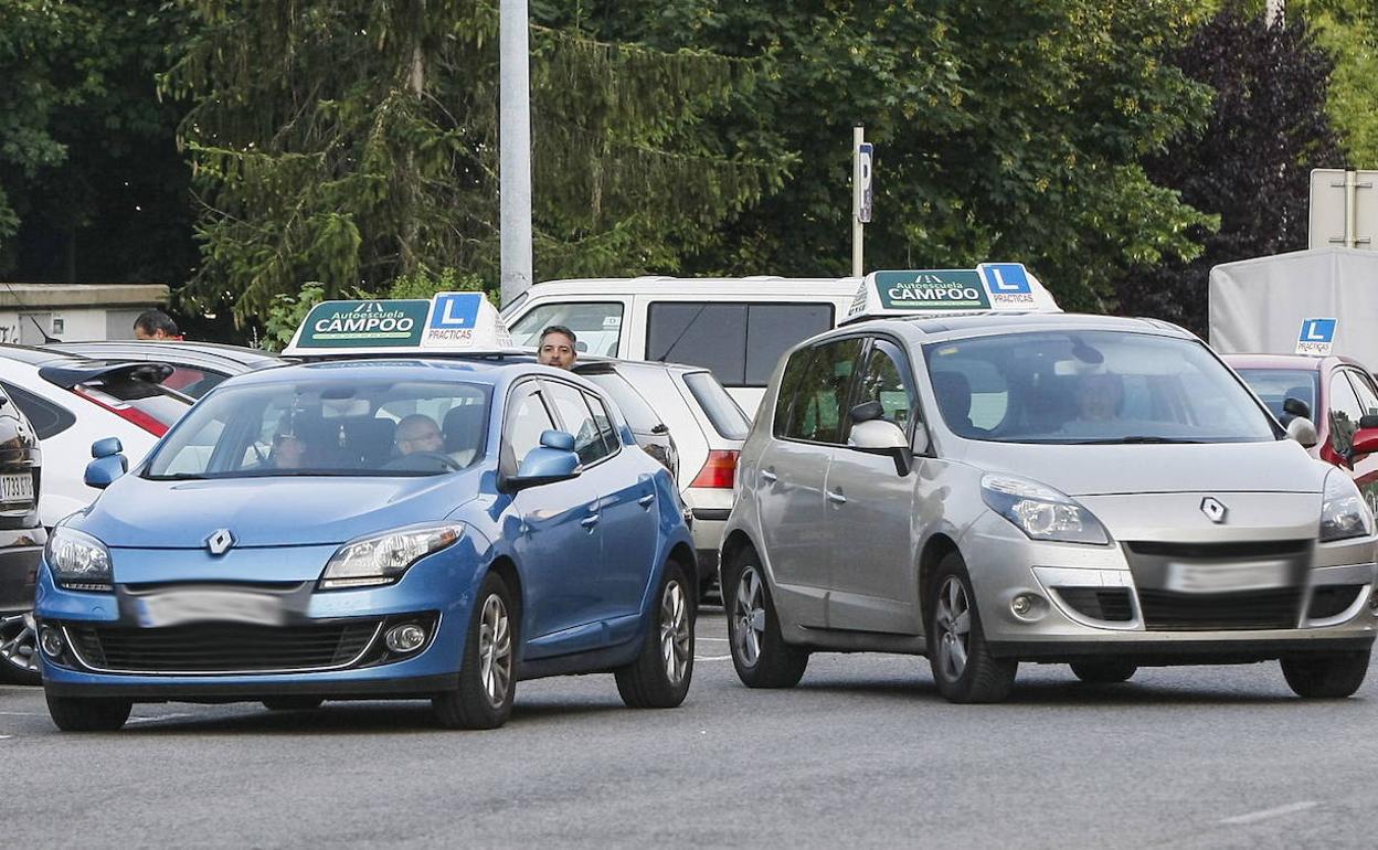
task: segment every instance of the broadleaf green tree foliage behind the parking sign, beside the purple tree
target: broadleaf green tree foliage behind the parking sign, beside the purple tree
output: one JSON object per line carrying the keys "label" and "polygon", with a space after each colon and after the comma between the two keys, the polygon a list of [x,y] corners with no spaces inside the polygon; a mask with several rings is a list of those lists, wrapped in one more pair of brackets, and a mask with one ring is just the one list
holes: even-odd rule
{"label": "broadleaf green tree foliage behind the parking sign, beside the purple tree", "polygon": [[723,143],[795,157],[690,267],[845,274],[852,125],[876,145],[867,269],[1022,259],[1071,307],[1116,273],[1193,256],[1200,214],[1141,161],[1199,131],[1210,92],[1164,63],[1196,0],[606,0],[606,37],[754,56]]}

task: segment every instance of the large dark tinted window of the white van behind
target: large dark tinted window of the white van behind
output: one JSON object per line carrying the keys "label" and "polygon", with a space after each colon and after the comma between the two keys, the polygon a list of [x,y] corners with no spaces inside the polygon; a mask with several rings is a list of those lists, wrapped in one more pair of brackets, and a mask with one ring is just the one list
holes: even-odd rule
{"label": "large dark tinted window of the white van behind", "polygon": [[657,302],[646,318],[646,360],[703,366],[729,387],[763,387],[787,350],[832,328],[832,304]]}

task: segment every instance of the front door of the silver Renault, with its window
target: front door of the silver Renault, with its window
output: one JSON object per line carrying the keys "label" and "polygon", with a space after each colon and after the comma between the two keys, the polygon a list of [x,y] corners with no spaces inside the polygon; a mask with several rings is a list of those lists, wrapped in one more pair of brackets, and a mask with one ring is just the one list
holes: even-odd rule
{"label": "front door of the silver Renault, with its window", "polygon": [[[874,339],[858,369],[852,405],[879,401],[885,419],[912,439],[916,398],[908,358],[894,343]],[[834,452],[824,508],[834,547],[830,628],[918,634],[914,499],[921,479],[918,471],[898,475],[894,459],[885,455],[852,448]]]}

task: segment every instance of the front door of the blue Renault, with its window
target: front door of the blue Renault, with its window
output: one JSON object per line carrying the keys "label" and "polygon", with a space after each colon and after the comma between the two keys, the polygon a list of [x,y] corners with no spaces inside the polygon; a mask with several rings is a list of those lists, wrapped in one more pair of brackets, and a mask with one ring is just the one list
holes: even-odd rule
{"label": "front door of the blue Renault, with its window", "polygon": [[[515,471],[540,434],[558,428],[536,380],[518,384],[503,417],[503,466]],[[583,475],[518,490],[504,536],[525,584],[526,656],[542,657],[598,646],[597,574],[602,561],[598,493]]]}

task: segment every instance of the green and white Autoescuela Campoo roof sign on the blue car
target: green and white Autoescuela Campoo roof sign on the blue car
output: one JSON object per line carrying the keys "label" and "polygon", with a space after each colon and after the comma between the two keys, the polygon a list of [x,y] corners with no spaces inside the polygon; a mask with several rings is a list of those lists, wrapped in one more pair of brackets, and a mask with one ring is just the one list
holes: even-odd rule
{"label": "green and white Autoescuela Campoo roof sign on the blue car", "polygon": [[431,300],[322,302],[311,307],[284,354],[445,353],[511,349],[511,335],[481,292]]}

